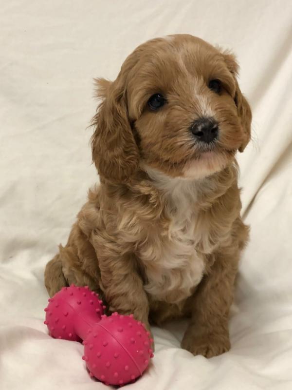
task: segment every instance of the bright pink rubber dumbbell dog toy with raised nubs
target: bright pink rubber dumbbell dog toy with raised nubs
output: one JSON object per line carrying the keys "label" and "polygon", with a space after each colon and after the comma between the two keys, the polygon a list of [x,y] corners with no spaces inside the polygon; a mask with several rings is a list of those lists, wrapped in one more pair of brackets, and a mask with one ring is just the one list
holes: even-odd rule
{"label": "bright pink rubber dumbbell dog toy with raised nubs", "polygon": [[81,341],[91,376],[107,385],[124,385],[142,375],[153,357],[153,340],[133,315],[103,314],[98,294],[86,287],[64,287],[45,308],[52,337]]}

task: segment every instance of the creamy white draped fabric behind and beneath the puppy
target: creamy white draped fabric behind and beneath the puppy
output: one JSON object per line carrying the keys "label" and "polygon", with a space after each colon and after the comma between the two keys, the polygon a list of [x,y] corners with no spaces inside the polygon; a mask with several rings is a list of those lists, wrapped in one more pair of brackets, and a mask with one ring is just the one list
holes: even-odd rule
{"label": "creamy white draped fabric behind and beneath the puppy", "polygon": [[92,78],[115,78],[156,36],[190,33],[233,48],[254,112],[238,156],[242,258],[232,349],[179,348],[184,324],[155,328],[156,353],[129,389],[292,389],[292,2],[0,0],[0,389],[106,389],[82,345],[43,325],[43,271],[97,180],[89,148]]}

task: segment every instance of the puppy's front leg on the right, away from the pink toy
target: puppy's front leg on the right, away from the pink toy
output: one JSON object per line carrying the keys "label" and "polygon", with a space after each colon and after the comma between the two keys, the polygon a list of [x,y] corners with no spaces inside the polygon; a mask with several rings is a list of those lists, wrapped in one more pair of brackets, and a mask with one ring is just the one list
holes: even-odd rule
{"label": "puppy's front leg on the right, away from the pink toy", "polygon": [[238,249],[215,255],[210,273],[195,292],[191,322],[182,347],[194,355],[212,357],[229,351],[228,316],[239,258]]}

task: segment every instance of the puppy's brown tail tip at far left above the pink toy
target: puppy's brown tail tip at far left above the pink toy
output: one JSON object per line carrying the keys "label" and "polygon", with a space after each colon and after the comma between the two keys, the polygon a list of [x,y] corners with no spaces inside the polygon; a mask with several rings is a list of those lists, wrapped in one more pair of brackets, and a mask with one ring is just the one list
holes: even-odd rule
{"label": "puppy's brown tail tip at far left above the pink toy", "polygon": [[60,254],[48,262],[45,269],[45,286],[50,296],[55,295],[62,287],[68,286],[63,274],[63,266]]}

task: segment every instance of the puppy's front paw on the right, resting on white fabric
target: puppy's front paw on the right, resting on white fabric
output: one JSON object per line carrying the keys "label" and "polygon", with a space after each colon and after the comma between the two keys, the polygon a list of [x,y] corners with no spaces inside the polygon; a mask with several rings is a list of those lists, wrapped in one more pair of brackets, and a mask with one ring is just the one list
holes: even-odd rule
{"label": "puppy's front paw on the right, resting on white fabric", "polygon": [[218,356],[230,350],[230,340],[228,331],[196,331],[194,326],[190,326],[182,341],[182,348],[193,355],[202,355],[207,358]]}

